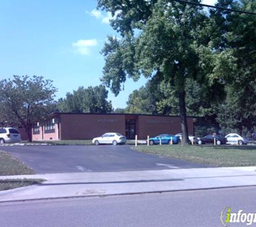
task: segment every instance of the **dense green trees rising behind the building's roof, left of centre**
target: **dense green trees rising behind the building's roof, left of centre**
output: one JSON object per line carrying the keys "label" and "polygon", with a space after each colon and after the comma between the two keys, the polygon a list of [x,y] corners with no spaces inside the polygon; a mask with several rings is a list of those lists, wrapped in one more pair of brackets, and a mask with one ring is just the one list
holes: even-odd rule
{"label": "dense green trees rising behind the building's roof, left of centre", "polygon": [[107,101],[108,91],[105,86],[79,87],[73,93],[67,93],[66,98],[58,102],[61,112],[74,113],[108,113],[112,112],[112,103]]}

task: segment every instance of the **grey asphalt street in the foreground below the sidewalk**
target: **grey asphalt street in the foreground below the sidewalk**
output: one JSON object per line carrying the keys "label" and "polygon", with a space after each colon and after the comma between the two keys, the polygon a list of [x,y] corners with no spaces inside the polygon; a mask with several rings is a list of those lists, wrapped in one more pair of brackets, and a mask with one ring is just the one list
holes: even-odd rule
{"label": "grey asphalt street in the foreground below the sidewalk", "polygon": [[246,187],[0,203],[0,226],[216,227],[223,226],[220,212],[227,206],[232,212],[256,212],[255,196],[256,187]]}

